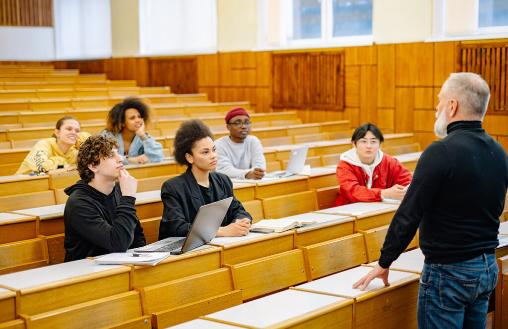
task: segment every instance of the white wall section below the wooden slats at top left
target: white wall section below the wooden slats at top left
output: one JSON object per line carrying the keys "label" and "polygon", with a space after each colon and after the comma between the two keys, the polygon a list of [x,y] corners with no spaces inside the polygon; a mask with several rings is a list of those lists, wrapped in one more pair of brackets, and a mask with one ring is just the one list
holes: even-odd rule
{"label": "white wall section below the wooden slats at top left", "polygon": [[0,60],[53,60],[52,27],[0,26]]}

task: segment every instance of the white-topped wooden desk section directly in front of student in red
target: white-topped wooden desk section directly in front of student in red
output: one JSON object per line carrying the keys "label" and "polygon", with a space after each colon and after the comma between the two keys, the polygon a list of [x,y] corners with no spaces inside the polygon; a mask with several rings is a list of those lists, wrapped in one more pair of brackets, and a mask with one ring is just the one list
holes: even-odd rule
{"label": "white-topped wooden desk section directly in front of student in red", "polygon": [[358,202],[328,209],[321,209],[317,213],[354,216],[355,232],[390,224],[393,215],[399,208],[398,204],[383,202]]}

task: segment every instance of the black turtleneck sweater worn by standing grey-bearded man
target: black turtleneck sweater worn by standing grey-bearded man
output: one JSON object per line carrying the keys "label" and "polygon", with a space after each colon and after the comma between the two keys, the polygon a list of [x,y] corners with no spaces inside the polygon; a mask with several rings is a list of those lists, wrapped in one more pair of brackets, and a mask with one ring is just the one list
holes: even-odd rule
{"label": "black turtleneck sweater worn by standing grey-bearded man", "polygon": [[379,265],[388,268],[417,228],[428,264],[493,253],[508,188],[508,157],[480,121],[456,121],[430,144],[395,213]]}

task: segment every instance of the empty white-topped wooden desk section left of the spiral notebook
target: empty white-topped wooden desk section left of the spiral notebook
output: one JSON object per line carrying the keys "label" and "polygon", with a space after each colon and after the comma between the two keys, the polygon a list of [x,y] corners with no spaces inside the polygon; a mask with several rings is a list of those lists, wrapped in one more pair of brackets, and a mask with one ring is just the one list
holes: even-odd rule
{"label": "empty white-topped wooden desk section left of the spiral notebook", "polygon": [[130,271],[80,259],[2,275],[0,286],[17,293],[16,315],[34,315],[130,291]]}

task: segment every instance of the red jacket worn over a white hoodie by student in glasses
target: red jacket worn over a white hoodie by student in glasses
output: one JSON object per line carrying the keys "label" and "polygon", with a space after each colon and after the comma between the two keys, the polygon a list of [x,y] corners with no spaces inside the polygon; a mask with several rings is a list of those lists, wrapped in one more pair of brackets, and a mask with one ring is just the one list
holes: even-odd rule
{"label": "red jacket worn over a white hoodie by student in glasses", "polygon": [[367,188],[369,176],[362,168],[341,160],[337,165],[337,181],[340,189],[334,207],[355,202],[381,201],[381,190],[395,184],[406,186],[411,173],[397,159],[383,154],[383,159],[372,173],[372,187]]}

